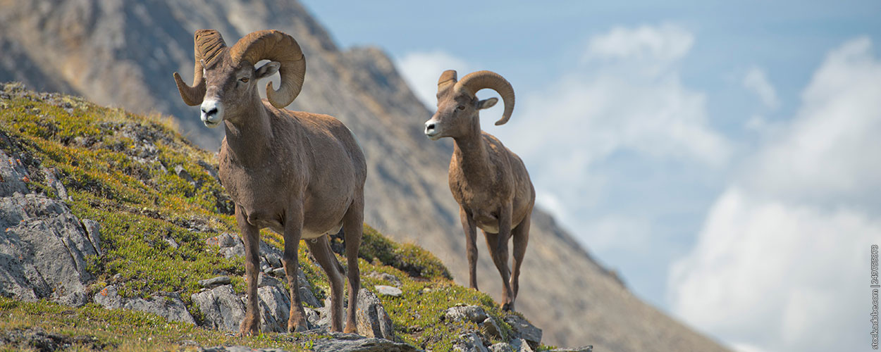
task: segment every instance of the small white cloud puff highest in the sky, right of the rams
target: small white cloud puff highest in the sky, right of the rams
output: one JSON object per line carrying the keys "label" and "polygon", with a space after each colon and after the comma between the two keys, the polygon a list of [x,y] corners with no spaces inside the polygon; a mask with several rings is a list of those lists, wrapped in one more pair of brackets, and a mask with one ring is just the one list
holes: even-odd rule
{"label": "small white cloud puff highest in the sky, right of the rams", "polygon": [[676,61],[688,54],[693,43],[692,33],[672,24],[618,26],[591,38],[585,58]]}

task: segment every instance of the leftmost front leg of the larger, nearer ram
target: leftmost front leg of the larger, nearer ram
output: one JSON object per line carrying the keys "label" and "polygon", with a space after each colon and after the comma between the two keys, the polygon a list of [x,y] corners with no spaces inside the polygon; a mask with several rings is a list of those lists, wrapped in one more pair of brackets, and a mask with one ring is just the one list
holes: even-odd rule
{"label": "leftmost front leg of the larger, nearer ram", "polygon": [[260,307],[257,304],[257,275],[260,272],[260,230],[248,223],[248,215],[240,206],[235,207],[235,221],[239,224],[241,239],[245,243],[245,282],[248,283],[248,304],[245,319],[241,320],[239,334],[260,334]]}

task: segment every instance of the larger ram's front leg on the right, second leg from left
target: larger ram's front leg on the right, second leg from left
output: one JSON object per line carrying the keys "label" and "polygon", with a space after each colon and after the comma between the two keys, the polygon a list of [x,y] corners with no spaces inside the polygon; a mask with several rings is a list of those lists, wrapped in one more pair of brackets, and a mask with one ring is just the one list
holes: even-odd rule
{"label": "larger ram's front leg on the right, second leg from left", "polygon": [[291,318],[287,320],[287,331],[296,332],[307,330],[306,312],[303,311],[303,303],[300,301],[300,282],[298,272],[300,270],[300,257],[297,250],[300,249],[300,235],[303,231],[302,207],[293,206],[285,216],[285,274],[287,285],[291,290]]}

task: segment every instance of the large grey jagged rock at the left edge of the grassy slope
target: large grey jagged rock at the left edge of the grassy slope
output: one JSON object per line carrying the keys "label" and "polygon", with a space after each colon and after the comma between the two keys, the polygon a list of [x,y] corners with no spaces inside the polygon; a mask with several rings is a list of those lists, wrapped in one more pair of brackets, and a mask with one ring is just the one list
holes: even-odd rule
{"label": "large grey jagged rock at the left edge of the grassy slope", "polygon": [[[0,156],[0,172],[15,171],[6,167],[10,163],[17,162]],[[9,173],[2,177],[0,192],[24,187]],[[67,205],[38,194],[4,196],[0,231],[0,296],[74,306],[88,301],[85,283],[92,275],[85,271],[85,256],[98,253]]]}

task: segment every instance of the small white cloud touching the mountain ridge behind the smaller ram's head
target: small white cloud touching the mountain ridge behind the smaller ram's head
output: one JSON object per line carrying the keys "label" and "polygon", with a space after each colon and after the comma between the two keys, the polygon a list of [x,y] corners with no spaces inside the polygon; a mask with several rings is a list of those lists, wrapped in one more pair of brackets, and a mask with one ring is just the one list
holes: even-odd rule
{"label": "small white cloud touching the mountain ridge behind the smaller ram's head", "polygon": [[472,71],[462,59],[441,50],[403,55],[397,60],[397,68],[401,70],[404,80],[410,84],[416,97],[426,106],[437,104],[434,95],[437,93],[438,77],[441,77],[444,70],[456,70],[460,72],[460,77],[462,72]]}

